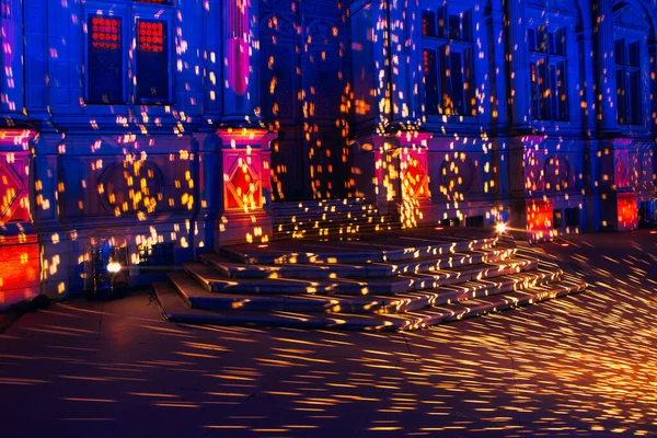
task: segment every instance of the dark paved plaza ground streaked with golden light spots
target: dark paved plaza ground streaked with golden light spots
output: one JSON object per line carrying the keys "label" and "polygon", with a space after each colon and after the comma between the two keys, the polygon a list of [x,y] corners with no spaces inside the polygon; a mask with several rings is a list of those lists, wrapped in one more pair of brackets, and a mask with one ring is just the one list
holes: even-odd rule
{"label": "dark paved plaza ground streaked with golden light spots", "polygon": [[539,249],[590,287],[416,332],[172,324],[148,291],[4,315],[0,436],[657,436],[657,233]]}

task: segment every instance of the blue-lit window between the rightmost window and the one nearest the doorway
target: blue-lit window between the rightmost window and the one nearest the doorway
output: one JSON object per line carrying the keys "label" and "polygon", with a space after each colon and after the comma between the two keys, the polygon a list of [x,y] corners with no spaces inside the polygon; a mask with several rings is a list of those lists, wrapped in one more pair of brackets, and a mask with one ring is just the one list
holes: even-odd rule
{"label": "blue-lit window between the rightmost window and the one nearest the doorway", "polygon": [[531,104],[535,120],[568,120],[566,33],[546,25],[527,30]]}

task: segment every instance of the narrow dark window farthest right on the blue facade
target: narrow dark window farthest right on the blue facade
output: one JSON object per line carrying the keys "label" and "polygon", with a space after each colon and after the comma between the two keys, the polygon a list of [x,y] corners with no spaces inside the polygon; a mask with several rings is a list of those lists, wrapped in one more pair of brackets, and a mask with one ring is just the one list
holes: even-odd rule
{"label": "narrow dark window farthest right on the blue facade", "polygon": [[641,125],[641,43],[614,42],[619,125]]}

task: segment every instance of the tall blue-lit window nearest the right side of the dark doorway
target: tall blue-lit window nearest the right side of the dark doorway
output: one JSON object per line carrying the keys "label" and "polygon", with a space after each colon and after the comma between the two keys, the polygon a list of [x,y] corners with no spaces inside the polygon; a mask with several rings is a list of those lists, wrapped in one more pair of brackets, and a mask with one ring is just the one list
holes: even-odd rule
{"label": "tall blue-lit window nearest the right side of the dark doorway", "polygon": [[476,116],[472,10],[423,11],[427,114]]}

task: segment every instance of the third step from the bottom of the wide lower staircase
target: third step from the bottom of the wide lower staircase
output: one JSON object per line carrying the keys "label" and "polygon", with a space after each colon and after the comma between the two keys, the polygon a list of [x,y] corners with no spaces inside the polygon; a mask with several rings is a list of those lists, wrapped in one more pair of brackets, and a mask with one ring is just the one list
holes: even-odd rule
{"label": "third step from the bottom of the wide lower staircase", "polygon": [[494,278],[535,269],[539,261],[529,257],[515,257],[493,263],[458,266],[426,274],[400,275],[379,278],[240,278],[231,279],[212,266],[203,263],[183,264],[184,269],[195,277],[206,290],[223,293],[320,293],[320,295],[393,295],[417,290],[435,289],[483,278]]}

